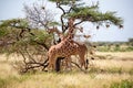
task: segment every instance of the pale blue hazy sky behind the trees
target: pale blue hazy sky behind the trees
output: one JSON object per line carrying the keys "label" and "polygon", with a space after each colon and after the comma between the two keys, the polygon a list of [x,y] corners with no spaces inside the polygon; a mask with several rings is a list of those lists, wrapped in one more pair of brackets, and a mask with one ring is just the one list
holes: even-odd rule
{"label": "pale blue hazy sky behind the trees", "polygon": [[[55,6],[47,0],[0,0],[0,20],[8,20],[13,18],[24,18],[23,4],[31,6],[33,2],[40,2],[47,6],[47,8],[55,13],[60,12],[54,10]],[[84,0],[86,3],[95,2],[98,0]],[[111,41],[122,42],[133,37],[133,0],[99,0],[100,11],[116,11],[117,16],[124,20],[124,28],[111,25],[106,29],[101,26],[99,30],[94,25],[83,23],[84,34],[92,34],[91,41]]]}

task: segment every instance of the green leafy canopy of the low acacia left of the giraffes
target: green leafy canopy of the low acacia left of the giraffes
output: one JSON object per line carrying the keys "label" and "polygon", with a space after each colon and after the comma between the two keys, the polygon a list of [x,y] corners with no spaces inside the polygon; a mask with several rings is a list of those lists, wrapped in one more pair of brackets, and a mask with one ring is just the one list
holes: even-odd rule
{"label": "green leafy canopy of the low acacia left of the giraffes", "polygon": [[40,47],[41,44],[50,46],[52,35],[48,34],[44,30],[29,30],[25,20],[13,19],[1,21],[0,40],[4,43],[0,45],[0,53],[10,54],[18,52],[20,48]]}

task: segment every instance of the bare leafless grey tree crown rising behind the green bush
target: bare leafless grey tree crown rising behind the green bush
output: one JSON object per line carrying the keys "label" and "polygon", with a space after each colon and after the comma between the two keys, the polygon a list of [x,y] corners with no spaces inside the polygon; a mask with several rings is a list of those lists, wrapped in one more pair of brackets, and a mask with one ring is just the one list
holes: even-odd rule
{"label": "bare leafless grey tree crown rising behind the green bush", "polygon": [[[31,28],[39,28],[47,30],[48,26],[55,24],[53,22],[53,14],[44,7],[39,4],[27,6],[24,4],[25,18]],[[45,29],[47,28],[47,29]]]}

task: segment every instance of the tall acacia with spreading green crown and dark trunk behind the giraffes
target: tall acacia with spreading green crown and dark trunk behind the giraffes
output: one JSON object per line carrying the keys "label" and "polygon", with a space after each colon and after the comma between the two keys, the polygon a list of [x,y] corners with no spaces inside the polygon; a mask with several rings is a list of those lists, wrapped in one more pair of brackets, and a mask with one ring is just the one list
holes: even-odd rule
{"label": "tall acacia with spreading green crown and dark trunk behind the giraffes", "polygon": [[[99,2],[88,6],[82,0],[49,0],[57,4],[57,8],[62,11],[60,14],[60,23],[62,34],[66,32],[69,28],[69,19],[75,19],[74,26],[80,25],[83,22],[90,22],[95,24],[96,29],[101,25],[109,28],[110,25],[116,25],[120,29],[123,28],[123,20],[116,16],[116,12],[101,12],[99,10]],[[75,30],[75,29],[74,29]],[[60,64],[58,58],[58,64]],[[59,65],[60,66],[60,65]],[[60,67],[59,67],[60,69]]]}

